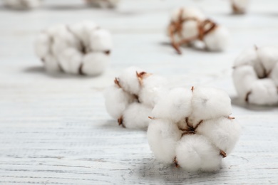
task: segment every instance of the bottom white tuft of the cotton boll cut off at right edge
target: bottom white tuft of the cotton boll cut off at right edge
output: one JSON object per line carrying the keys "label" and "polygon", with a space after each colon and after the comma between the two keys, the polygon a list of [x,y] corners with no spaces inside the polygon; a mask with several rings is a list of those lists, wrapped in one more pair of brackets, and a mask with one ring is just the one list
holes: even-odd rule
{"label": "bottom white tuft of the cotton boll cut off at right edge", "polygon": [[273,80],[261,79],[252,83],[247,101],[257,105],[275,105],[278,102],[277,87]]}

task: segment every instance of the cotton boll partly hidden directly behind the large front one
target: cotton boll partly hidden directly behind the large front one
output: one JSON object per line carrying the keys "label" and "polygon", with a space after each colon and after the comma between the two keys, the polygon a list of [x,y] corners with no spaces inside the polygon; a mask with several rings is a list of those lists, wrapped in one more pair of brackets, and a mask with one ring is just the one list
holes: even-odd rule
{"label": "cotton boll partly hidden directly behind the large front one", "polygon": [[123,127],[146,129],[153,106],[168,91],[166,84],[158,75],[136,67],[126,68],[105,91],[106,110]]}

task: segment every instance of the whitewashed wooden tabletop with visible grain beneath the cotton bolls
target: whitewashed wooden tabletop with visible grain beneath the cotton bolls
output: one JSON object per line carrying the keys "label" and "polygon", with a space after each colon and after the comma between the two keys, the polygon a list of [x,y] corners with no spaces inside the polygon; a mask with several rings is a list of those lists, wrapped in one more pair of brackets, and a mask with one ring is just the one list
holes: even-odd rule
{"label": "whitewashed wooden tabletop with visible grain beneath the cotton bolls", "polygon": [[[193,5],[230,29],[225,53],[167,46],[175,7]],[[49,75],[34,56],[34,36],[53,23],[93,20],[113,33],[110,68],[98,78]],[[0,8],[0,184],[278,184],[278,108],[236,98],[232,61],[243,48],[278,46],[278,1],[252,0],[245,16],[225,0],[123,0],[115,11],[82,1],[47,0],[35,11]],[[173,86],[227,90],[243,134],[217,173],[187,173],[156,162],[144,131],[117,126],[103,89],[120,70],[138,65]]]}

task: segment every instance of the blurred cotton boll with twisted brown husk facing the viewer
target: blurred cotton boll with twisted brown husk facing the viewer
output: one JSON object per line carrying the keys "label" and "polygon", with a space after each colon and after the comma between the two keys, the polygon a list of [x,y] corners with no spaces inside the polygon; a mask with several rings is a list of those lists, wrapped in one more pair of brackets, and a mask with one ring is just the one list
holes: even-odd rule
{"label": "blurred cotton boll with twisted brown husk facing the viewer", "polygon": [[179,54],[180,46],[195,41],[202,41],[209,51],[223,51],[230,41],[230,33],[225,27],[205,18],[197,9],[187,7],[173,12],[168,35]]}

